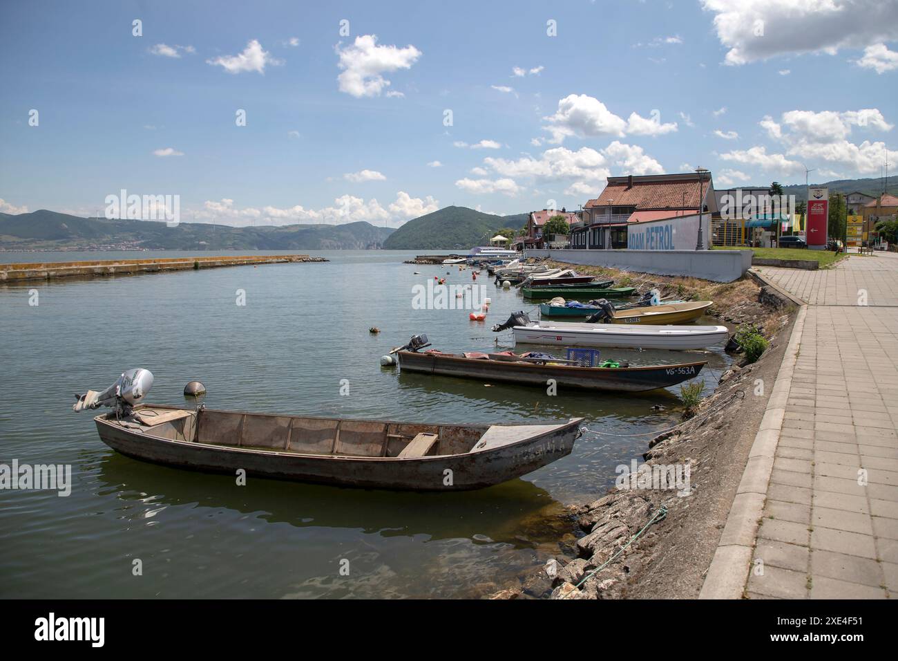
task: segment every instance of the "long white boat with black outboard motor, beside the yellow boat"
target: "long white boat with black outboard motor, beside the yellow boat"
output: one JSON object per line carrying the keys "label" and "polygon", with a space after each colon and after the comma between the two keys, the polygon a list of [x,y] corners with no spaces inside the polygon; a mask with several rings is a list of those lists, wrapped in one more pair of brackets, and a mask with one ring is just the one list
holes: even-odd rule
{"label": "long white boat with black outboard motor, beside the yellow boat", "polygon": [[617,346],[629,349],[704,349],[726,342],[726,326],[656,326],[648,324],[580,324],[564,321],[531,321],[516,312],[494,332],[511,328],[515,343],[566,346]]}

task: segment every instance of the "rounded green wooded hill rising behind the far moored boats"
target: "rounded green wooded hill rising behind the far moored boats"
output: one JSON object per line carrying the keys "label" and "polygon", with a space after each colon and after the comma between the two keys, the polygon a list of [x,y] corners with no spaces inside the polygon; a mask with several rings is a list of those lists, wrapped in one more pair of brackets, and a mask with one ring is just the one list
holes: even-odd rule
{"label": "rounded green wooded hill rising behind the far moored boats", "polygon": [[467,250],[482,246],[498,229],[522,228],[529,214],[494,216],[467,207],[446,207],[409,220],[383,242],[387,250]]}

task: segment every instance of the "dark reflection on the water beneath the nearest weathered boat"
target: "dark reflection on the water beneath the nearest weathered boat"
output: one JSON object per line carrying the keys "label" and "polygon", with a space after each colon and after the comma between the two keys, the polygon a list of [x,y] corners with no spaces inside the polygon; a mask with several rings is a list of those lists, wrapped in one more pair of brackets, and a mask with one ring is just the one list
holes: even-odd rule
{"label": "dark reflection on the water beneath the nearest weathered boat", "polygon": [[[546,540],[557,540],[559,531],[551,528],[567,523],[564,505],[523,479],[439,496],[374,490],[360,498],[357,489],[298,482],[254,480],[251,488],[235,487],[233,477],[210,473],[185,480],[179,469],[132,460],[118,452],[108,452],[98,463],[98,496],[115,496],[129,507],[182,507],[185,516],[195,515],[197,508],[229,510],[241,518],[248,515],[297,529],[343,529],[383,538],[425,535],[428,540],[478,541],[489,531],[489,540],[519,549],[543,540],[543,527],[550,529]],[[520,526],[526,522],[543,524],[534,523],[522,534]]]}

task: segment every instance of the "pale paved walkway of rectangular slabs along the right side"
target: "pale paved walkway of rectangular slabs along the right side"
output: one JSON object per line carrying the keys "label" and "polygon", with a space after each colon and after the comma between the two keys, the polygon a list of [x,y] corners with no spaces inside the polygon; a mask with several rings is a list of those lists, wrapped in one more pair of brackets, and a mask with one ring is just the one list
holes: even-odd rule
{"label": "pale paved walkway of rectangular slabs along the right side", "polygon": [[898,596],[898,255],[757,271],[808,307],[745,592]]}

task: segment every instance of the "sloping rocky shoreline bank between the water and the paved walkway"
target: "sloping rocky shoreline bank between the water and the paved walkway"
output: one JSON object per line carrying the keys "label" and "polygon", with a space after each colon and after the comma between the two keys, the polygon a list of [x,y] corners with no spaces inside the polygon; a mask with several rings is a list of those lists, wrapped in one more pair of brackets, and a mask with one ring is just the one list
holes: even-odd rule
{"label": "sloping rocky shoreline bank between the water and the paved walkway", "polygon": [[[577,271],[589,269],[577,266]],[[770,345],[753,364],[737,360],[690,420],[648,442],[638,471],[629,479],[619,476],[623,488],[568,508],[577,536],[572,554],[550,558],[545,567],[522,577],[520,585],[489,598],[694,598],[717,548],[797,306],[749,276],[720,285],[609,271],[601,269],[601,274],[650,282],[665,296],[714,300],[713,316],[761,328]],[[658,488],[656,476],[673,478],[677,467],[688,488],[679,488],[682,479]],[[559,542],[562,547],[570,549],[569,541]]]}

